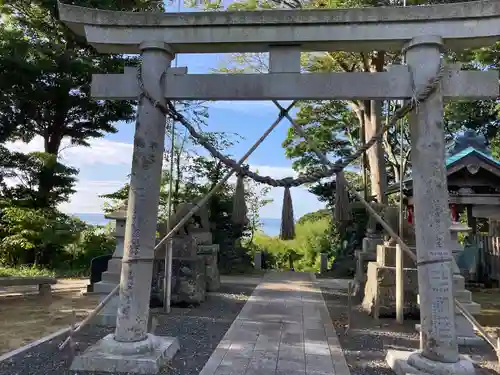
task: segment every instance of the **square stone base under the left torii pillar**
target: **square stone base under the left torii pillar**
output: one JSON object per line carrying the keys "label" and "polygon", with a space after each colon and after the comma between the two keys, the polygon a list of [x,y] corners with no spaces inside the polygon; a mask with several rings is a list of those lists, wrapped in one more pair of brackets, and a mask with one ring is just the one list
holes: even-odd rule
{"label": "square stone base under the left torii pillar", "polygon": [[76,356],[71,371],[158,374],[179,350],[174,337],[148,334],[138,342],[119,342],[109,334]]}

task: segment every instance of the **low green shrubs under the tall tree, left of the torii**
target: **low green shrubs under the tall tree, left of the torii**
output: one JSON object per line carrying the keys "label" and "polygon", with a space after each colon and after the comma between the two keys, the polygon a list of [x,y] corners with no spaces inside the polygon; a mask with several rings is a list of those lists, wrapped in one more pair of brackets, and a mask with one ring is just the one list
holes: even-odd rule
{"label": "low green shrubs under the tall tree, left of the torii", "polygon": [[4,274],[85,274],[92,258],[112,253],[110,230],[57,210],[7,206],[0,212]]}

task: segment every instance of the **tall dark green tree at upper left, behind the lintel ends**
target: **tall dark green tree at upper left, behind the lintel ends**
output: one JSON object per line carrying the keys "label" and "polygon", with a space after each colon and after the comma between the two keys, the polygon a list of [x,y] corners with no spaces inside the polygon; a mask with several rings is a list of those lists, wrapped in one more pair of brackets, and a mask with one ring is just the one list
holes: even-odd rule
{"label": "tall dark green tree at upper left, behind the lintel ends", "polygon": [[[77,1],[107,9],[152,9],[154,1]],[[0,1],[0,141],[43,138],[44,152],[57,158],[63,139],[88,146],[116,132],[117,121],[134,118],[133,102],[90,97],[92,73],[119,72],[135,58],[97,54],[57,19],[56,0]],[[40,165],[38,196],[51,201],[59,164]],[[46,198],[42,198],[45,196]]]}

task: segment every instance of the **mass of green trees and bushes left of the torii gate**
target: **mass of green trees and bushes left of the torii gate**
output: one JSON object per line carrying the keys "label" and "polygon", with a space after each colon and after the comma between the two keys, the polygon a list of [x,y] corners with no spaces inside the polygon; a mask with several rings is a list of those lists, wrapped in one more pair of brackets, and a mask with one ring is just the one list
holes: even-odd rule
{"label": "mass of green trees and bushes left of the torii gate", "polygon": [[[72,3],[158,8],[150,0]],[[133,102],[92,99],[90,79],[121,72],[136,58],[98,54],[58,21],[57,0],[0,0],[0,16],[0,263],[88,267],[89,256],[112,251],[114,239],[57,210],[78,174],[60,152],[63,140],[88,146],[116,132],[116,122],[134,119]],[[43,144],[38,152],[9,150],[8,142],[35,138]]]}

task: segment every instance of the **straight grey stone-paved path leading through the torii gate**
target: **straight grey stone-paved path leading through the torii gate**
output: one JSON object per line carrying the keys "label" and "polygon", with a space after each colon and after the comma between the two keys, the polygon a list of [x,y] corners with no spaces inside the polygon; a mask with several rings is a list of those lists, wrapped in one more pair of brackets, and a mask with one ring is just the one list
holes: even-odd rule
{"label": "straight grey stone-paved path leading through the torii gate", "polygon": [[266,274],[200,375],[350,375],[313,275]]}

